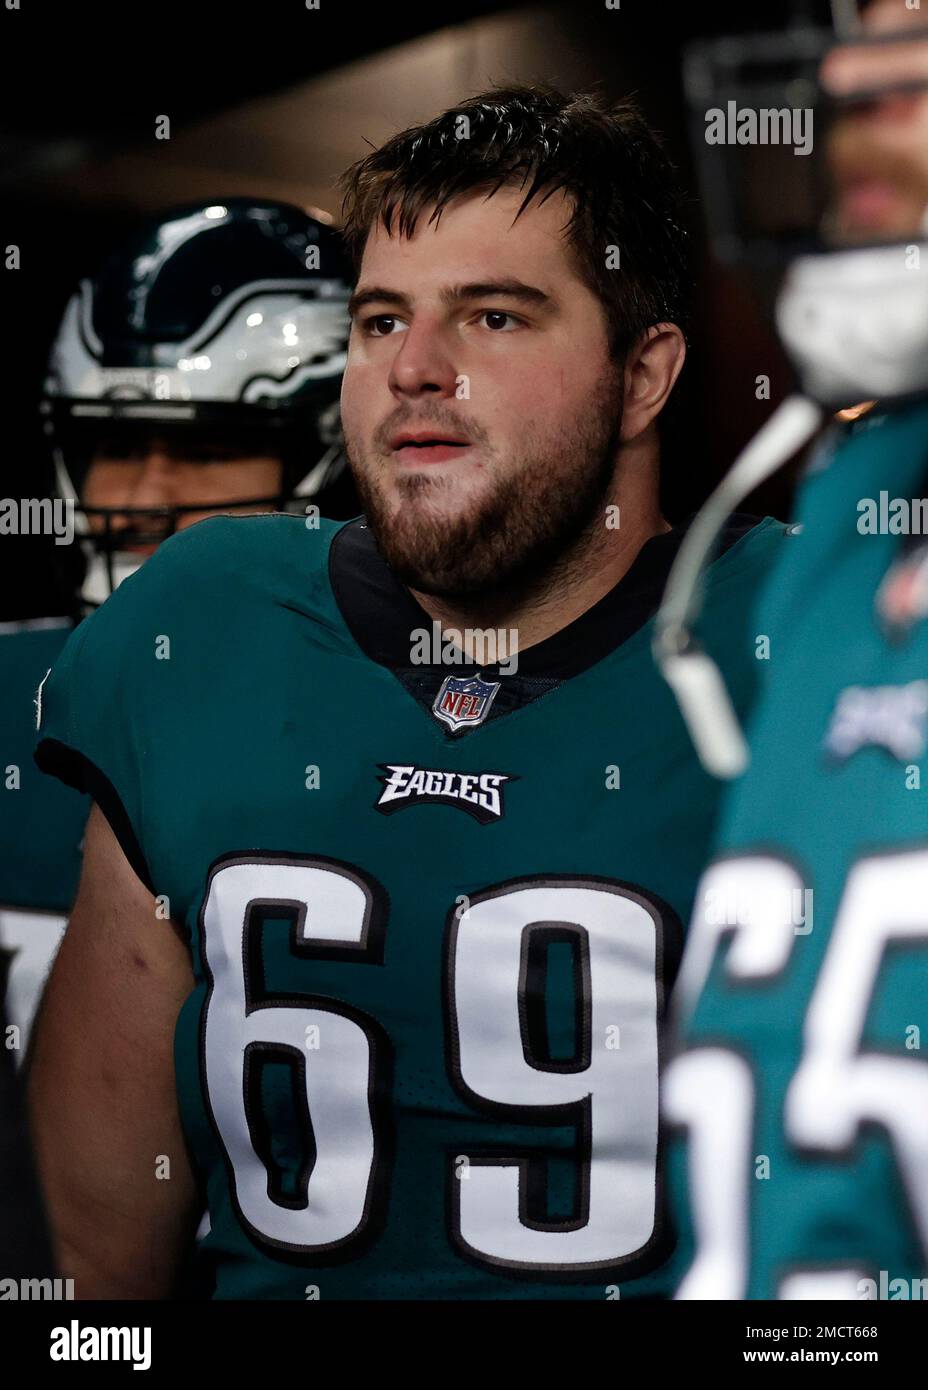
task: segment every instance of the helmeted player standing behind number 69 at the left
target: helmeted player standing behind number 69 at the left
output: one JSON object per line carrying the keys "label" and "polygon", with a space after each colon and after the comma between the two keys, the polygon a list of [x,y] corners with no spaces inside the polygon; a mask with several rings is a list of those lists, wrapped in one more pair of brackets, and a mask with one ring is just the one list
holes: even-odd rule
{"label": "helmeted player standing behind number 69 at the left", "polygon": [[86,575],[74,613],[0,624],[0,942],[21,1059],[74,902],[89,801],[32,762],[35,688],[74,620],[175,530],[214,512],[357,510],[338,393],[347,346],[338,234],[226,199],[144,222],[69,300],[43,414]]}

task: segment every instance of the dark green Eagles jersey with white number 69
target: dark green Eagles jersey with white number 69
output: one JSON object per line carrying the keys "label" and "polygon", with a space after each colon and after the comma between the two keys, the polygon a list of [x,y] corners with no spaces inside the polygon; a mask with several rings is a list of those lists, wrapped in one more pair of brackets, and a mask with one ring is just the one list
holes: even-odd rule
{"label": "dark green Eagles jersey with white number 69", "polygon": [[[189,942],[175,1072],[206,1284],[660,1294],[661,1020],[718,788],[652,662],[653,605],[515,706],[535,649],[510,674],[439,657],[432,706],[381,652],[389,573],[339,560],[361,532],[199,523],[40,692],[36,759],[90,791]],[[782,534],[746,528],[709,577],[704,638],[742,710]],[[664,539],[618,587],[629,602]],[[403,595],[411,649],[425,614]]]}

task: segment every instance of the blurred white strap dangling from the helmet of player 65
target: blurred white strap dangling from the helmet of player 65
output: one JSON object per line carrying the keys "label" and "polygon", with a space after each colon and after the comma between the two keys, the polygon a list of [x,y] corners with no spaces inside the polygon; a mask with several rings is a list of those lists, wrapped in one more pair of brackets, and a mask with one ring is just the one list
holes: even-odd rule
{"label": "blurred white strap dangling from the helmet of player 65", "polygon": [[703,580],[732,512],[811,439],[825,417],[807,396],[788,396],[738,456],[693,518],[677,552],[654,619],[653,651],[706,771],[738,777],[747,744],[718,666],[692,635],[703,603]]}

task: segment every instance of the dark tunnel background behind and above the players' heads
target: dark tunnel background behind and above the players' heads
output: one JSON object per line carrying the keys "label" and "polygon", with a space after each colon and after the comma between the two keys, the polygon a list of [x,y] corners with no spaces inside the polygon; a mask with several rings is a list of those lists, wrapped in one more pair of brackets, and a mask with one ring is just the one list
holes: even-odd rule
{"label": "dark tunnel background behind and above the players' heads", "polygon": [[[318,11],[304,0],[19,4],[0,8],[0,225],[3,246],[19,246],[22,259],[0,282],[3,496],[53,489],[38,425],[46,354],[78,279],[139,214],[242,192],[338,214],[333,179],[365,140],[376,145],[400,124],[511,78],[635,93],[690,196],[699,292],[665,435],[671,520],[699,505],[789,386],[746,284],[706,247],[681,54],[695,38],[782,28],[811,4],[477,0],[460,13],[403,0],[321,0]],[[169,142],[154,139],[163,114]],[[759,374],[771,378],[771,402],[756,399]],[[790,475],[753,502],[788,516]],[[76,550],[0,537],[0,619],[61,612]]]}

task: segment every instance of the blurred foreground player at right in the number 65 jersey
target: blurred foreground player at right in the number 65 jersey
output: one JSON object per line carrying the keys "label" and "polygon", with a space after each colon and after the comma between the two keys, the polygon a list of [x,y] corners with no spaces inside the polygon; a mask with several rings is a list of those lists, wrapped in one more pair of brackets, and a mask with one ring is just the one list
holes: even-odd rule
{"label": "blurred foreground player at right in the number 65 jersey", "polygon": [[875,0],[818,74],[825,245],[778,318],[806,396],[849,409],[753,624],[779,646],[678,984],[665,1098],[686,1129],[688,1300],[928,1287],[924,17]]}

